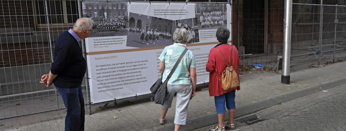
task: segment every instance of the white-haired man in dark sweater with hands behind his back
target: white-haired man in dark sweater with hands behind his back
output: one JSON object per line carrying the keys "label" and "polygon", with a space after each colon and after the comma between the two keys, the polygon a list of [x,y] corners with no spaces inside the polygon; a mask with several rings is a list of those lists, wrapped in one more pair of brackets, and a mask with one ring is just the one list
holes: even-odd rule
{"label": "white-haired man in dark sweater with hands behind his back", "polygon": [[59,35],[55,42],[51,71],[44,74],[40,81],[47,87],[54,83],[59,91],[67,109],[65,131],[84,130],[85,111],[81,83],[86,62],[80,42],[90,35],[93,23],[90,18],[80,18],[72,29]]}

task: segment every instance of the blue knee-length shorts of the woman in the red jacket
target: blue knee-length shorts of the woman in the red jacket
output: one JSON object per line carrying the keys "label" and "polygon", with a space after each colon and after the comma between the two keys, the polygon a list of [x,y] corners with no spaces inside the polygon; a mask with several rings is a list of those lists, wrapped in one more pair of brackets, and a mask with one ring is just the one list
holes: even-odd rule
{"label": "blue knee-length shorts of the woman in the red jacket", "polygon": [[235,104],[235,93],[236,91],[230,91],[225,94],[222,94],[220,96],[215,96],[215,107],[216,107],[216,112],[218,114],[224,114],[226,113],[225,109],[225,102],[226,102],[226,107],[228,110],[231,109],[236,109],[236,104]]}

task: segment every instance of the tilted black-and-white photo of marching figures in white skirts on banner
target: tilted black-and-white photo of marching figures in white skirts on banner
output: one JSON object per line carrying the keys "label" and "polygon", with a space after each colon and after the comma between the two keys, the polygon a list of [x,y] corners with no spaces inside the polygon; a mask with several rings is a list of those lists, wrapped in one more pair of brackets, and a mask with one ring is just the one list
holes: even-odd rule
{"label": "tilted black-and-white photo of marching figures in white skirts on banner", "polygon": [[175,30],[172,25],[172,20],[130,12],[126,46],[146,48],[172,45]]}

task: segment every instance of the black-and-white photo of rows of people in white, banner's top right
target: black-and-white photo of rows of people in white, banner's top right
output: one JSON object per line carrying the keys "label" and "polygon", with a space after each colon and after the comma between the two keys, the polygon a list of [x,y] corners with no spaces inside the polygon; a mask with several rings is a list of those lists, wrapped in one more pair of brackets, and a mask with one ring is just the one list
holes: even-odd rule
{"label": "black-and-white photo of rows of people in white, banner's top right", "polygon": [[227,28],[225,3],[196,3],[195,25],[197,29]]}

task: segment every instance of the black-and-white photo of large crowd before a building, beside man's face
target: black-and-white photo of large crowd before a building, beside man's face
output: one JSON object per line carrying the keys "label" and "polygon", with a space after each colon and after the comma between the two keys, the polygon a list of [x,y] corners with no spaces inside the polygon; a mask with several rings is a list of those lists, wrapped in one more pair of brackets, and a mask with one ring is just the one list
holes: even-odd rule
{"label": "black-and-white photo of large crowd before a building, beside man's face", "polygon": [[89,37],[126,36],[128,12],[126,2],[85,1],[83,17],[94,20],[93,33]]}

